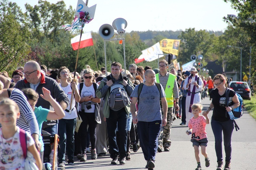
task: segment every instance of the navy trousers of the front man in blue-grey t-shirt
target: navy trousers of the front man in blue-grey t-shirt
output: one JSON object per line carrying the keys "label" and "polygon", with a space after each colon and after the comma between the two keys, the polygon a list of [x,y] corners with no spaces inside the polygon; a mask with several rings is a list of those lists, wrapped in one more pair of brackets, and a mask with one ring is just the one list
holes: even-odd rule
{"label": "navy trousers of the front man in blue-grey t-shirt", "polygon": [[161,125],[161,120],[156,120],[153,122],[139,121],[137,123],[140,145],[145,160],[155,160]]}

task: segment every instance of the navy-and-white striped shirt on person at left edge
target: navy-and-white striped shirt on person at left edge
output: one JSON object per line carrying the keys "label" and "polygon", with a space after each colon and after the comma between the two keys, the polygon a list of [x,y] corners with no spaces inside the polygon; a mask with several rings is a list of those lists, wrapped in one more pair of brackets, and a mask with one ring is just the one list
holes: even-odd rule
{"label": "navy-and-white striped shirt on person at left edge", "polygon": [[23,92],[14,88],[11,90],[11,96],[9,98],[19,106],[20,116],[17,119],[16,125],[30,134],[35,133],[40,135],[37,119]]}

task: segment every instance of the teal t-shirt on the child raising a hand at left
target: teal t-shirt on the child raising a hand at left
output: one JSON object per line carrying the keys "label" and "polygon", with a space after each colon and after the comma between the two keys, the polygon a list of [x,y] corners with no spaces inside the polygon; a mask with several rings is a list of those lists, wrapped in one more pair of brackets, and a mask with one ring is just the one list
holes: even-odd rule
{"label": "teal t-shirt on the child raising a hand at left", "polygon": [[[38,122],[38,126],[39,126],[39,132],[41,132],[43,122],[47,121],[46,118],[47,118],[47,115],[49,113],[49,110],[39,106],[39,107],[35,107],[34,113],[35,113],[35,117],[37,118],[37,122]],[[42,147],[41,147],[40,152],[43,152],[44,151],[44,143],[43,143],[43,137],[41,135],[39,135],[39,141],[42,143]]]}

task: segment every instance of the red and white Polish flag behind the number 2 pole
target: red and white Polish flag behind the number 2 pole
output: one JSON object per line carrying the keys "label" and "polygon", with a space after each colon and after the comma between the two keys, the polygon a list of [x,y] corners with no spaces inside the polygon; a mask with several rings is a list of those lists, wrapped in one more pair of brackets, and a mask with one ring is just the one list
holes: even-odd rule
{"label": "red and white Polish flag behind the number 2 pole", "polygon": [[[74,38],[71,38],[71,46],[73,50],[78,50],[79,40],[80,40],[80,35],[77,35]],[[89,46],[93,46],[93,37],[91,36],[91,32],[82,34],[81,43],[80,43],[80,48],[85,48]]]}

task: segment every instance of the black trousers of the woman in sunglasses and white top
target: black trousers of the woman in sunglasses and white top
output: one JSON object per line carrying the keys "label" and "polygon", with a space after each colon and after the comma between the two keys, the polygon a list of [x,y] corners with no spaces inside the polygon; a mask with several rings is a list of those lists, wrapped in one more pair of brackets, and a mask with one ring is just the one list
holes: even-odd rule
{"label": "black trousers of the woman in sunglasses and white top", "polygon": [[97,123],[95,121],[95,113],[82,113],[79,111],[79,115],[83,122],[79,127],[79,135],[81,136],[81,148],[82,153],[86,153],[87,147],[87,125],[89,125],[90,141],[91,141],[91,150],[95,149],[96,144],[96,127]]}

